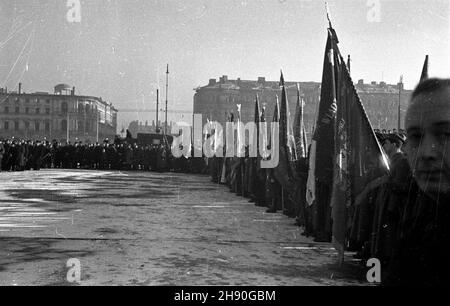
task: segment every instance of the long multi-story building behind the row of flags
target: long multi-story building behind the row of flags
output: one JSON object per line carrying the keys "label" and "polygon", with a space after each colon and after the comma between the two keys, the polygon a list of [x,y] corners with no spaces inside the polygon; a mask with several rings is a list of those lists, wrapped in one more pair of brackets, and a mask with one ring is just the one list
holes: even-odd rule
{"label": "long multi-story building behind the row of flags", "polygon": [[[304,119],[310,137],[316,124],[321,84],[317,82],[286,82],[291,120],[295,115],[297,84],[300,85],[301,95],[306,102]],[[402,87],[400,94],[399,86]],[[403,84],[388,85],[384,82],[364,84],[363,80],[355,84],[355,88],[373,128],[386,130],[397,128],[398,102],[401,101],[403,120],[411,91],[404,90]],[[241,120],[243,122],[253,121],[256,95],[259,97],[261,106],[266,109],[266,120],[270,122],[276,96],[281,98],[279,82],[266,81],[264,77],[259,77],[256,81],[229,80],[224,75],[219,78],[219,81],[210,79],[208,85],[199,87],[195,91],[194,113],[203,115],[203,124],[210,120],[218,121],[223,126],[230,112],[236,114],[238,104],[241,105]]]}

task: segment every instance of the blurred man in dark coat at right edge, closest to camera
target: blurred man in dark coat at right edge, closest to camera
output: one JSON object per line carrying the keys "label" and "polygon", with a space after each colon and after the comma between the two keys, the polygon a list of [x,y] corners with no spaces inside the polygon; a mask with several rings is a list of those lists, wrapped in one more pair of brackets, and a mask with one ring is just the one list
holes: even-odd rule
{"label": "blurred man in dark coat at right edge, closest to camera", "polygon": [[[414,90],[404,146],[417,193],[409,193],[384,284],[450,285],[450,79],[428,79]],[[411,186],[414,192],[414,187]]]}

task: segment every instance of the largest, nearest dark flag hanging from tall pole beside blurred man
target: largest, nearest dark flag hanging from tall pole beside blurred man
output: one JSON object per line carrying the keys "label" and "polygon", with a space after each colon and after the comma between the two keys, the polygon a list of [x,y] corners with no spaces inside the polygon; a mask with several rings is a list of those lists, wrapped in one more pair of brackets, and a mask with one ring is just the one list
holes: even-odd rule
{"label": "largest, nearest dark flag hanging from tall pole beside blurred man", "polygon": [[[334,114],[334,117],[326,117],[334,123],[334,128],[331,129],[332,134],[323,134],[333,136],[333,146],[329,149],[331,160],[323,162],[332,165],[332,238],[342,262],[351,224],[349,211],[353,209],[355,197],[368,182],[385,175],[389,166],[337,44],[336,33],[330,28],[324,65],[324,74],[327,75],[324,79],[328,82],[322,87],[323,96],[328,100],[321,103],[334,105],[329,109],[329,114]],[[320,139],[320,131],[317,135]],[[316,154],[319,156],[319,149]]]}

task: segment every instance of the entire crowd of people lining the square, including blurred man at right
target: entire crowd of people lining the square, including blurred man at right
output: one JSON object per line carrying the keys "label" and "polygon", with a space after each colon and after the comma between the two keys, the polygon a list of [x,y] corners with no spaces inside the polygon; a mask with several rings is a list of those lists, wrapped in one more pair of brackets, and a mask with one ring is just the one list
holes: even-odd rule
{"label": "entire crowd of people lining the square, including blurred man at right", "polygon": [[[383,264],[387,285],[448,285],[450,203],[450,80],[429,79],[416,88],[405,119],[405,131],[376,135],[389,159],[390,171],[369,182],[354,196],[348,249],[363,261]],[[163,145],[129,143],[61,144],[0,140],[0,169],[40,168],[177,171],[207,173],[212,181],[266,207],[296,218],[304,235],[331,241],[315,232],[317,214],[306,203],[309,161],[296,161],[300,178],[287,195],[273,169],[262,169],[258,158],[178,158]],[[225,151],[225,149],[224,149]],[[309,154],[308,154],[309,155]],[[331,227],[325,220],[323,228]],[[331,231],[324,231],[330,233]]]}

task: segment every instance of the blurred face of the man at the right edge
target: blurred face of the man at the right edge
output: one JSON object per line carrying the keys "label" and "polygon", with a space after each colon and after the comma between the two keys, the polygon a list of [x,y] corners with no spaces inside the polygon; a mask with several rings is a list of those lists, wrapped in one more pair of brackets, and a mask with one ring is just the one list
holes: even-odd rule
{"label": "blurred face of the man at the right edge", "polygon": [[405,152],[419,187],[434,197],[450,192],[450,88],[421,94],[406,115]]}

